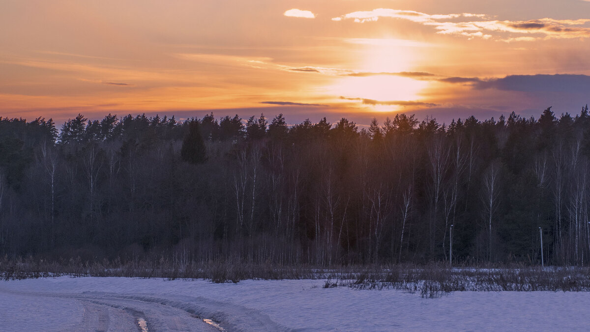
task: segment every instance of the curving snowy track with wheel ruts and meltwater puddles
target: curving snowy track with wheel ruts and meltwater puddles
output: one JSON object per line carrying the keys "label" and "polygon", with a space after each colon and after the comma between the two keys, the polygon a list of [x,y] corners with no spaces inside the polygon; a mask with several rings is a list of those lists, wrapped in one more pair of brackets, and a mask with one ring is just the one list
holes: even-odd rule
{"label": "curving snowy track with wheel ruts and meltwater puddles", "polygon": [[[18,294],[72,298],[84,303],[84,318],[71,331],[142,331],[138,318],[146,321],[148,331],[290,331],[260,311],[242,305],[183,295],[119,294],[83,292],[60,294],[51,292],[18,292]],[[122,317],[125,318],[122,318]]]}

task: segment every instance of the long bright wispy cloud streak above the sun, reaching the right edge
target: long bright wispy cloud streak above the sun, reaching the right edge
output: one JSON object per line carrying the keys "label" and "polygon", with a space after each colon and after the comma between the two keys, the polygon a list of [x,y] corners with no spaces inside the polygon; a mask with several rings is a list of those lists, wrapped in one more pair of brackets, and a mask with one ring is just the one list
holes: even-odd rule
{"label": "long bright wispy cloud streak above the sun, reaching the right edge", "polygon": [[[551,38],[590,38],[590,27],[586,25],[590,19],[553,19],[540,18],[528,21],[489,20],[484,14],[445,14],[431,15],[416,11],[378,8],[372,11],[359,11],[332,18],[333,21],[353,19],[355,22],[375,22],[379,18],[405,19],[418,24],[434,27],[437,34],[460,35],[469,39],[496,38],[503,41],[533,41]],[[465,22],[455,22],[458,18],[475,18]],[[479,19],[479,20],[477,20]],[[500,34],[535,35],[522,37],[505,37]]]}

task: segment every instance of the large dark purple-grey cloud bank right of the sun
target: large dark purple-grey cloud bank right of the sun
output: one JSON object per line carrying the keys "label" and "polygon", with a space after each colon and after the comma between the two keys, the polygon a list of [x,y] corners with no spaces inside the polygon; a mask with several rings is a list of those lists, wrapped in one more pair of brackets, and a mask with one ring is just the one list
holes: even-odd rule
{"label": "large dark purple-grey cloud bank right of the sun", "polygon": [[503,91],[590,93],[588,75],[509,75],[504,78],[480,80],[480,89],[495,88]]}

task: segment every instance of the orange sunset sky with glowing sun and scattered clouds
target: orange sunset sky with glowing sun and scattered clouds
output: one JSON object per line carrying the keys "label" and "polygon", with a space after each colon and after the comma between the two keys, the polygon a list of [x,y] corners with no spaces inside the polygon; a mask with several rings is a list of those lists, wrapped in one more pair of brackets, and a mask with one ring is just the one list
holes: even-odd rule
{"label": "orange sunset sky with glowing sun and scattered clouds", "polygon": [[590,1],[0,0],[0,116],[396,113],[590,101]]}

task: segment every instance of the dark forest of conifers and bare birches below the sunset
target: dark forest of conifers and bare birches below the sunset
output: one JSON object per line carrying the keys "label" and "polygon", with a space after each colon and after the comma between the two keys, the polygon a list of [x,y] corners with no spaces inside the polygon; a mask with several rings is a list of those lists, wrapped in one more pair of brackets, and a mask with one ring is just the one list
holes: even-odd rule
{"label": "dark forest of conifers and bare birches below the sunset", "polygon": [[0,117],[0,254],[588,265],[588,106],[359,127]]}

